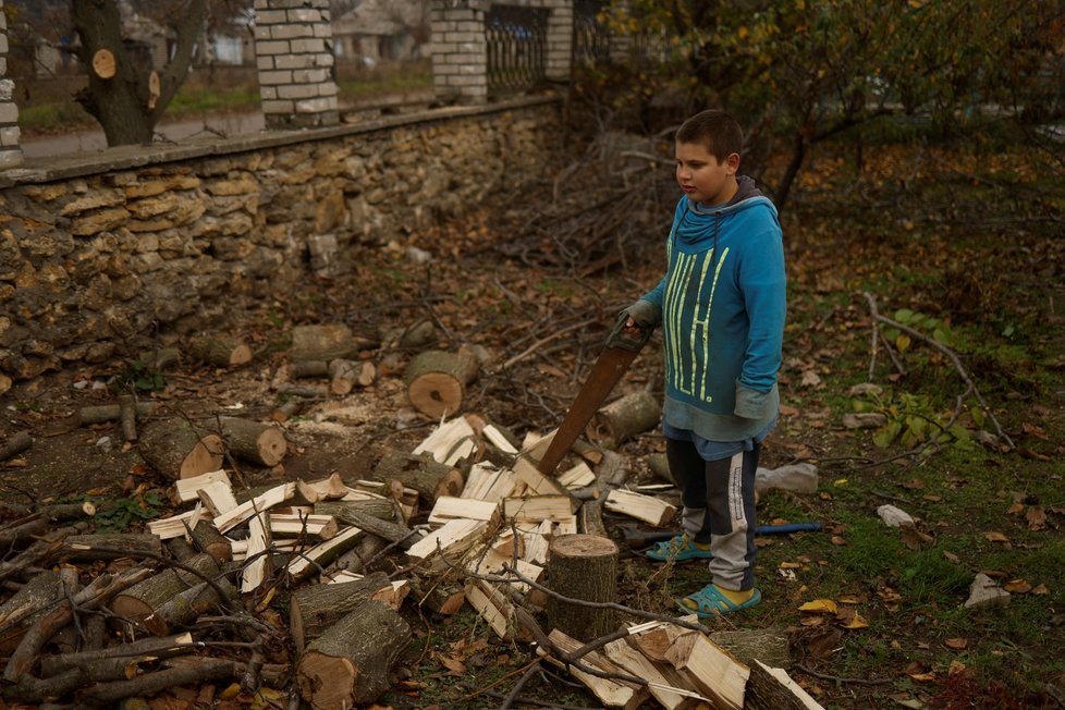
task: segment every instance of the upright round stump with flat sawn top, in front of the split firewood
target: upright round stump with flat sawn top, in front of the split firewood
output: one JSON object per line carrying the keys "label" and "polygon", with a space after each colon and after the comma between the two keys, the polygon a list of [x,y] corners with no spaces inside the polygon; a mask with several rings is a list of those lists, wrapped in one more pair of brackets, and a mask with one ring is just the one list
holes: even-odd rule
{"label": "upright round stump with flat sawn top, in front of the split firewood", "polygon": [[[551,542],[548,579],[552,591],[570,599],[616,601],[617,546],[598,535],[563,535]],[[589,641],[614,631],[614,612],[555,597],[548,599],[548,623],[566,636]]]}

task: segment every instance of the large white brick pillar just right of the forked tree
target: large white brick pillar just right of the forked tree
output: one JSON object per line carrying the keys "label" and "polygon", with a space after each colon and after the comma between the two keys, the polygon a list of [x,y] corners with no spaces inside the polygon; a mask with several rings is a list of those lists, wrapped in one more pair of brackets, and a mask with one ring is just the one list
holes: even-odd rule
{"label": "large white brick pillar just right of the forked tree", "polygon": [[340,122],[329,0],[255,0],[255,56],[268,128]]}

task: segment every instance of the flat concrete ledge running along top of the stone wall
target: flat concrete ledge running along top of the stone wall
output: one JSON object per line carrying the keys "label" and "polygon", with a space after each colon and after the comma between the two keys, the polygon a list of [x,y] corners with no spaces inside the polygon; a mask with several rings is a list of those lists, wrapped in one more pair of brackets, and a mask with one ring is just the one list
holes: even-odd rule
{"label": "flat concrete ledge running along top of the stone wall", "polygon": [[32,158],[19,167],[0,172],[0,189],[15,185],[34,185],[83,178],[99,173],[166,164],[194,158],[227,156],[249,152],[260,148],[276,148],[298,143],[330,140],[333,138],[375,133],[405,125],[448,121],[456,118],[491,115],[514,109],[562,101],[560,96],[523,97],[495,103],[477,106],[449,106],[400,115],[383,117],[355,124],[339,124],[298,131],[261,131],[259,133],[219,138],[204,136],[179,145],[152,144],[149,146],[120,146],[97,152],[73,152],[48,158]]}

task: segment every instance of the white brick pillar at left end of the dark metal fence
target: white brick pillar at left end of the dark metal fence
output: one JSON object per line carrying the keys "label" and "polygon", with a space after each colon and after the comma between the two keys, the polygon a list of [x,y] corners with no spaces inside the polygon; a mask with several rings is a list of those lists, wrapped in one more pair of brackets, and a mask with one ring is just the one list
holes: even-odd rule
{"label": "white brick pillar at left end of the dark metal fence", "polygon": [[488,100],[488,42],[483,0],[433,0],[432,77],[438,99],[457,103]]}

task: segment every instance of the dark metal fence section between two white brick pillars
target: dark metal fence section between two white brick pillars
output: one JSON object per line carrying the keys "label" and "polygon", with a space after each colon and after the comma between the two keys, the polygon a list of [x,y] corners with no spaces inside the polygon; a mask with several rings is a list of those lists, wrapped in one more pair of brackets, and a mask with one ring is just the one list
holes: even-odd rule
{"label": "dark metal fence section between two white brick pillars", "polygon": [[546,75],[548,10],[493,4],[485,17],[488,93],[529,89]]}

